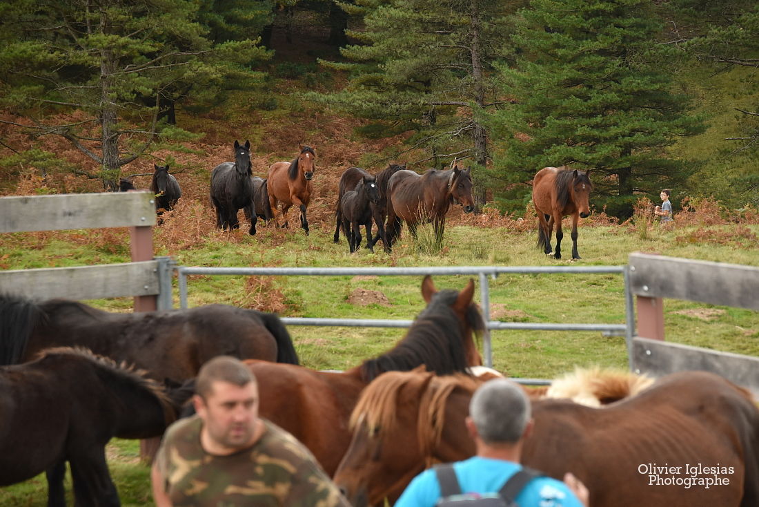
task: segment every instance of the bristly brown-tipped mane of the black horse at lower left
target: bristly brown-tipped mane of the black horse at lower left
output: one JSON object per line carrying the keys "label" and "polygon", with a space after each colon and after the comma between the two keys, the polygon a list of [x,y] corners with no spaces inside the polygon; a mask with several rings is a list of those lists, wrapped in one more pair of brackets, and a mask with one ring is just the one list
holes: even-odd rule
{"label": "bristly brown-tipped mane of the black horse at lower left", "polygon": [[45,360],[51,356],[80,357],[92,363],[96,368],[105,369],[112,375],[116,375],[119,379],[123,379],[137,388],[149,391],[161,404],[166,425],[168,426],[168,424],[171,424],[176,419],[175,409],[172,407],[172,401],[168,398],[165,389],[158,382],[150,379],[147,376],[148,372],[146,370],[138,369],[136,366],[126,363],[126,361],[116,363],[110,357],[99,356],[84,347],[51,347],[39,352],[37,360]]}

